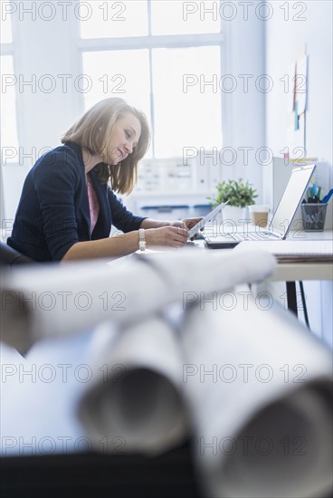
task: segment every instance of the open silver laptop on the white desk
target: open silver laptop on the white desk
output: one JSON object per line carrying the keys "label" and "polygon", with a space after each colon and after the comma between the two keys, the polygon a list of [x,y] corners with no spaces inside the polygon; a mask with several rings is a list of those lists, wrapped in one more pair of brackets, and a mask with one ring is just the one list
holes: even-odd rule
{"label": "open silver laptop on the white desk", "polygon": [[212,230],[210,234],[206,231],[205,244],[218,249],[234,247],[246,240],[284,240],[315,168],[315,165],[308,165],[292,170],[288,185],[268,227],[249,225],[244,220],[244,225],[234,226],[234,230],[228,227],[225,231],[222,223],[220,227],[214,227],[215,234],[212,235]]}

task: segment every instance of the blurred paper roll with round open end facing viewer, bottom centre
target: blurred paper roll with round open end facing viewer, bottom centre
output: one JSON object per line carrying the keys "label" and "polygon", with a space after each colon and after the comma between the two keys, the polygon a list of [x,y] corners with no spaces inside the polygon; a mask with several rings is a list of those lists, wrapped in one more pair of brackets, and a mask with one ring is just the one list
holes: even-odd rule
{"label": "blurred paper roll with round open end facing viewer, bottom centre", "polygon": [[118,442],[121,452],[156,455],[179,444],[187,423],[174,330],[154,316],[116,338],[109,323],[95,334],[90,351],[95,378],[78,407],[94,449],[112,452],[110,442]]}

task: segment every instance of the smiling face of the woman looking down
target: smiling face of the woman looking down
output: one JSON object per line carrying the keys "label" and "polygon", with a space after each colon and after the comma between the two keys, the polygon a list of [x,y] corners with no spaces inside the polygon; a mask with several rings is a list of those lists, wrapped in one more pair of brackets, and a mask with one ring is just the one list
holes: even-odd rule
{"label": "smiling face of the woman looking down", "polygon": [[117,165],[119,161],[128,157],[133,152],[133,148],[138,145],[141,134],[141,124],[133,114],[126,114],[116,121],[107,150],[107,162],[110,165]]}

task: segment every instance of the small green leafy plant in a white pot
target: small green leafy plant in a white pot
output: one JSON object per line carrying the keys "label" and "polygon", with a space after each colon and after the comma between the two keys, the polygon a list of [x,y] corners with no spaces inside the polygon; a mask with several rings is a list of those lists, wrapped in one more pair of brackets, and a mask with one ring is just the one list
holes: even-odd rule
{"label": "small green leafy plant in a white pot", "polygon": [[242,178],[219,182],[216,188],[217,195],[209,197],[211,200],[209,204],[214,208],[229,200],[222,212],[224,220],[232,220],[239,225],[245,219],[246,206],[254,204],[254,199],[258,196],[257,191],[248,181],[243,182]]}

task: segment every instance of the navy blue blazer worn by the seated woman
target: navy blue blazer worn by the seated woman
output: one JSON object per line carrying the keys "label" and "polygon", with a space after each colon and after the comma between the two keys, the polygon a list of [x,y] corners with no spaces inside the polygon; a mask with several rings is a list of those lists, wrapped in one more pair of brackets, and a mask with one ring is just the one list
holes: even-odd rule
{"label": "navy blue blazer worn by the seated woman", "polygon": [[109,237],[111,225],[138,230],[144,219],[130,213],[96,172],[89,173],[100,203],[90,235],[90,208],[81,146],[52,149],[29,171],[7,244],[36,261],[60,261],[72,244]]}

